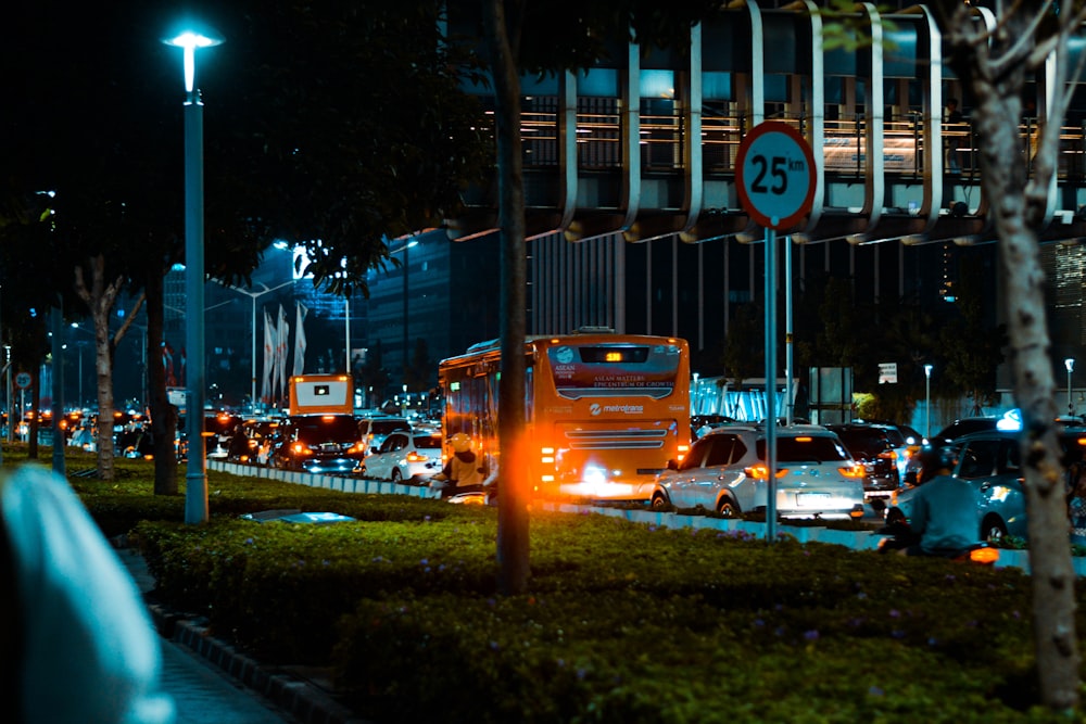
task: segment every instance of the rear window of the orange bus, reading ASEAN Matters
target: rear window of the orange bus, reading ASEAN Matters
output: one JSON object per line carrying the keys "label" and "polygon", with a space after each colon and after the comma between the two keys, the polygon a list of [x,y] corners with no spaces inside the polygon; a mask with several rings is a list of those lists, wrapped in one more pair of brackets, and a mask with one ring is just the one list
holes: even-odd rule
{"label": "rear window of the orange bus, reading ASEAN Matters", "polygon": [[561,397],[667,397],[682,358],[677,344],[561,344],[548,347],[554,386]]}

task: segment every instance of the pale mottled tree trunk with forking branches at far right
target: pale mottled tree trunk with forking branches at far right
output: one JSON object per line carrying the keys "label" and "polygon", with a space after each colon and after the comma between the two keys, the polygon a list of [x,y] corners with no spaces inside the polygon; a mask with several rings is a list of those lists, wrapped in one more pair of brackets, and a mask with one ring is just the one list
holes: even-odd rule
{"label": "pale mottled tree trunk with forking branches at far right", "polygon": [[[1015,43],[1023,38],[1036,40],[1030,35],[1031,14],[1035,11],[1022,7],[1010,9],[1000,17],[1003,27],[989,45],[987,39],[975,37],[976,26],[968,5],[957,9],[948,38],[959,52],[956,56],[959,77],[969,82],[973,97],[981,99],[974,114],[981,179],[985,196],[993,202],[990,214],[1005,275],[1003,303],[1014,398],[1022,410],[1037,675],[1044,704],[1068,711],[1078,706],[1075,574],[1071,564],[1059,430],[1055,423],[1059,410],[1037,236],[1049,182],[1056,173],[1058,139],[1055,136],[1041,139],[1034,177],[1030,179],[1025,164],[1030,149],[1023,149],[1019,122],[1028,69],[1025,59],[1031,49],[1023,50]],[[1021,56],[1010,56],[1014,51],[1021,52]],[[1014,62],[1019,59],[1021,62]],[[1002,69],[997,72],[997,65]],[[1059,72],[1053,84],[1060,93],[1062,76]],[[1062,116],[1062,111],[1058,111],[1047,123],[1059,128]]]}

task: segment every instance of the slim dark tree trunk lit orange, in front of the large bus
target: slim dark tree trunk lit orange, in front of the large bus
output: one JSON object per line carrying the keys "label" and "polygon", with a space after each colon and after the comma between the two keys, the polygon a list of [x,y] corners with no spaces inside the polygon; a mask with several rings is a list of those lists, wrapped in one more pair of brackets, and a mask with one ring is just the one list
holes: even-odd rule
{"label": "slim dark tree trunk lit orange, in front of the large bus", "polygon": [[[490,68],[494,79],[495,135],[502,249],[501,346],[498,382],[498,590],[528,588],[528,503],[530,481],[525,456],[525,192],[520,158],[520,78],[516,65],[519,17],[509,22],[503,0],[483,2]],[[512,42],[510,42],[512,36]]]}

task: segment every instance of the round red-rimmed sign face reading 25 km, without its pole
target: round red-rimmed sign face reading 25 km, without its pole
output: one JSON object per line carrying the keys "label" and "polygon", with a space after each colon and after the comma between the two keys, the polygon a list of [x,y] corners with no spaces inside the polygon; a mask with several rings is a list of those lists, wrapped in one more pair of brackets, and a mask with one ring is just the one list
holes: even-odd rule
{"label": "round red-rimmed sign face reading 25 km, without its pole", "polygon": [[758,226],[778,231],[794,226],[815,202],[810,143],[788,124],[758,124],[740,143],[735,186],[743,209]]}

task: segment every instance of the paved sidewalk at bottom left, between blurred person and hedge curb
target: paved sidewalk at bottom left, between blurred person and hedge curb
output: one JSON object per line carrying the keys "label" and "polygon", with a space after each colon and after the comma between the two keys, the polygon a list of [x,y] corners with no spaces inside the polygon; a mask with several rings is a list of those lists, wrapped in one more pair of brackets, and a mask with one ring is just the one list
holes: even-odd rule
{"label": "paved sidewalk at bottom left, between blurred person and hedge curb", "polygon": [[[142,556],[130,548],[117,555],[141,593],[154,589]],[[367,724],[317,684],[209,636],[200,621],[156,604],[149,610],[162,636],[163,679],[177,704],[177,724]]]}

